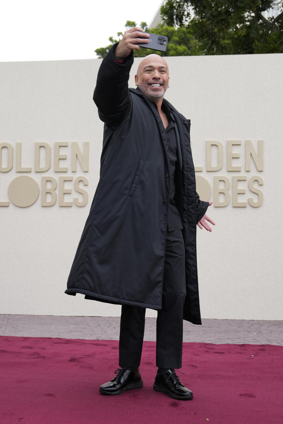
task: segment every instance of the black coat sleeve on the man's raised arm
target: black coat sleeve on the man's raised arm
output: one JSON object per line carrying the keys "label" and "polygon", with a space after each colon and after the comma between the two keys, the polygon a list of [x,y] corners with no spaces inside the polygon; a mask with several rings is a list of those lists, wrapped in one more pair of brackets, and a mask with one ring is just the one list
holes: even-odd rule
{"label": "black coat sleeve on the man's raised arm", "polygon": [[117,45],[118,43],[109,50],[101,63],[93,95],[99,118],[109,128],[120,123],[131,102],[128,80],[134,55],[131,52],[123,63],[115,62],[114,53]]}

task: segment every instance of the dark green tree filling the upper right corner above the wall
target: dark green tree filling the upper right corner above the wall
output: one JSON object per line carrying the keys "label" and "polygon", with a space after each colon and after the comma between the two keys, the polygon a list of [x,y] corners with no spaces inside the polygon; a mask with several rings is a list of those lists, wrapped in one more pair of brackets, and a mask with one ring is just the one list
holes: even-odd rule
{"label": "dark green tree filling the upper right corner above the wall", "polygon": [[168,0],[163,24],[187,28],[204,54],[283,53],[283,5],[277,17],[263,12],[272,0]]}

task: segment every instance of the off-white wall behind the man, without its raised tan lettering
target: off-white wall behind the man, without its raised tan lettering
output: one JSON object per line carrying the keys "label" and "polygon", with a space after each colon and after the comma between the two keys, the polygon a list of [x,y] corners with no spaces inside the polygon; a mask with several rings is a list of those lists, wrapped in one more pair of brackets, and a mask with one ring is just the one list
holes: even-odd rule
{"label": "off-white wall behind the man, without its raised tan lettering", "polygon": [[[135,59],[130,86],[134,86]],[[13,168],[0,172],[0,313],[42,315],[117,316],[120,306],[103,304],[64,294],[67,277],[87,218],[99,178],[103,124],[92,101],[99,60],[11,62],[0,64],[0,143],[14,150]],[[211,206],[216,221],[212,233],[198,229],[198,265],[203,318],[283,319],[282,312],[282,182],[283,182],[283,54],[243,56],[194,56],[168,58],[170,88],[166,98],[191,119],[191,143],[197,175],[212,187],[213,177],[247,176],[238,201],[246,207]],[[218,140],[224,148],[221,170],[207,172],[205,145]],[[241,140],[233,152],[233,166],[227,171],[227,140]],[[245,170],[245,140],[258,148],[264,143],[263,171],[252,161]],[[22,167],[16,172],[16,143],[21,143]],[[46,142],[52,148],[51,167],[34,172],[34,143]],[[68,142],[60,149],[67,154],[60,166],[67,172],[54,172],[54,142]],[[71,171],[71,142],[81,150],[89,142],[89,171],[80,165]],[[7,165],[3,149],[2,167]],[[213,149],[213,164],[216,148]],[[1,164],[0,164],[1,165]],[[17,176],[28,175],[39,185],[39,198],[29,207],[15,206],[8,198],[8,186]],[[60,207],[58,196],[51,207],[41,206],[42,177],[84,176],[88,180],[86,206]],[[252,207],[248,181],[260,176],[263,204]],[[256,185],[256,184],[255,184]],[[65,183],[71,194],[64,201],[82,196],[73,181]],[[58,185],[56,189],[58,195]],[[223,201],[224,196],[219,198]],[[155,316],[148,310],[148,316]]]}

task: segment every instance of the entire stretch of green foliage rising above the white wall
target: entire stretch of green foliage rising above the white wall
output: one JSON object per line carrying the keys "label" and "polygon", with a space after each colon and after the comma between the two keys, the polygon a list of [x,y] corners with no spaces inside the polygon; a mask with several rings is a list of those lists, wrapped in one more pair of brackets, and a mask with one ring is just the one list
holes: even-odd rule
{"label": "entire stretch of green foliage rising above the white wall", "polygon": [[[283,53],[283,3],[277,17],[266,19],[262,13],[271,6],[272,0],[167,0],[161,8],[163,23],[150,29],[168,37],[166,52],[141,48],[134,56]],[[125,27],[136,25],[127,21]],[[149,31],[146,22],[140,27]],[[117,36],[95,50],[98,57],[105,57],[123,34]]]}

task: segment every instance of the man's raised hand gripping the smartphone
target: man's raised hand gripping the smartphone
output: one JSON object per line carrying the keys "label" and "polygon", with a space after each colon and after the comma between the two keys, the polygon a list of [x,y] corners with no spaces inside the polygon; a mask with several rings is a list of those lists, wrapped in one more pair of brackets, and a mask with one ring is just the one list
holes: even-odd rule
{"label": "man's raised hand gripping the smartphone", "polygon": [[[142,32],[142,34],[140,33],[140,31]],[[119,42],[115,51],[115,56],[120,59],[124,59],[125,57],[129,56],[132,50],[140,50],[140,46],[138,46],[137,43],[146,44],[149,42],[148,39],[149,34],[144,32],[142,28],[130,28],[128,31],[125,31],[123,38]]]}

